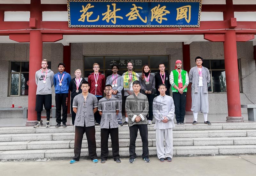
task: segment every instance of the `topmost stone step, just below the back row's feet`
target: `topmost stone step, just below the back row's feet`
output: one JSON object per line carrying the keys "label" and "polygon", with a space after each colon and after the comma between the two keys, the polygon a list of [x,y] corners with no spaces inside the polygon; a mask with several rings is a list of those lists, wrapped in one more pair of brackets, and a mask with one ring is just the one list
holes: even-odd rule
{"label": "topmost stone step, just below the back row's feet", "polygon": [[[199,131],[199,130],[256,130],[256,122],[250,123],[213,123],[212,125],[206,124],[184,124],[176,125],[173,131]],[[119,132],[129,132],[127,125],[119,126]],[[95,126],[95,131],[100,132],[100,126]],[[148,125],[148,131],[155,131],[154,124]],[[0,134],[23,134],[23,133],[63,133],[63,132],[75,132],[74,126],[67,126],[67,128],[55,128],[54,125],[50,128],[45,126],[39,128],[33,128],[30,126],[20,127],[0,127]]]}

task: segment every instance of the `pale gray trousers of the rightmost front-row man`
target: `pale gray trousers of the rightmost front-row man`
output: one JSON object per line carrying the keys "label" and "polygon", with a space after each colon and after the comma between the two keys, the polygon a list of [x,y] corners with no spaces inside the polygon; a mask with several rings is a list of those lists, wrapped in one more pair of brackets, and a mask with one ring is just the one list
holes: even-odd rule
{"label": "pale gray trousers of the rightmost front-row man", "polygon": [[[165,139],[165,148],[164,148]],[[173,139],[172,139],[172,128],[165,130],[156,129],[156,152],[157,157],[172,158],[173,155]]]}

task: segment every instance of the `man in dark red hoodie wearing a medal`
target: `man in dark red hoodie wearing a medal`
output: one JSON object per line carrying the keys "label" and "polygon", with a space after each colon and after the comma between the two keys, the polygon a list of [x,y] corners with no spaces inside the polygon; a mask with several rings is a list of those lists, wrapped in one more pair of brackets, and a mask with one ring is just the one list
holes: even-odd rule
{"label": "man in dark red hoodie wearing a medal", "polygon": [[[106,84],[106,78],[103,74],[99,72],[100,65],[98,63],[94,63],[92,69],[94,70],[94,72],[88,76],[88,83],[90,85],[89,91],[97,97],[99,102],[99,100],[103,98],[103,90]],[[96,122],[95,125],[100,125],[101,116],[99,114],[99,111],[95,112],[94,119]]]}

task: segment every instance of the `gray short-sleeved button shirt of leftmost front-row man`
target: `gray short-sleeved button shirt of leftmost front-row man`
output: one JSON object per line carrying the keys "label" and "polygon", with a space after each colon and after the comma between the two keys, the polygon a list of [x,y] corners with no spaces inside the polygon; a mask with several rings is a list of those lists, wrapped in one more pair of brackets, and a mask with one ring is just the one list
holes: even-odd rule
{"label": "gray short-sleeved button shirt of leftmost front-row man", "polygon": [[98,100],[95,95],[88,93],[86,100],[82,93],[75,96],[73,108],[77,108],[75,124],[76,126],[94,126],[93,108],[98,107]]}

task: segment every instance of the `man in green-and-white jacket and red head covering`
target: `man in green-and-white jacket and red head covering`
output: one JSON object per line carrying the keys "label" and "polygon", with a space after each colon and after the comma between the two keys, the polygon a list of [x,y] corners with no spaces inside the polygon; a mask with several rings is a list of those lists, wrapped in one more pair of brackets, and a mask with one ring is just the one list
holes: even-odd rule
{"label": "man in green-and-white jacket and red head covering", "polygon": [[182,62],[177,60],[175,69],[170,74],[172,85],[172,98],[175,106],[175,118],[177,125],[184,124],[187,86],[189,84],[188,72],[181,69]]}

